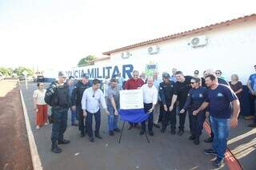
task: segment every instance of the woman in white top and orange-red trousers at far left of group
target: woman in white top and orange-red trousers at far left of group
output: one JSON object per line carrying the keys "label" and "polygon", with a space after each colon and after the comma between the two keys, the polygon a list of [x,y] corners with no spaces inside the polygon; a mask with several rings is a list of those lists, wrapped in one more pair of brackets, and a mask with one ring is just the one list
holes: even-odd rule
{"label": "woman in white top and orange-red trousers at far left of group", "polygon": [[34,111],[36,113],[36,128],[47,125],[48,105],[45,102],[46,89],[42,82],[38,83],[38,89],[34,90]]}

